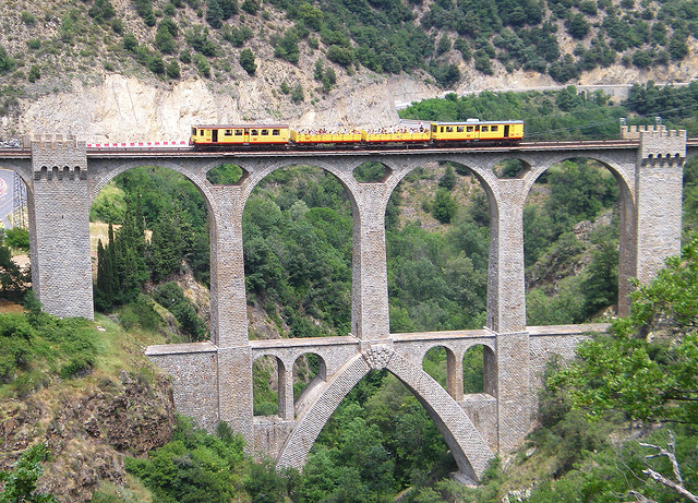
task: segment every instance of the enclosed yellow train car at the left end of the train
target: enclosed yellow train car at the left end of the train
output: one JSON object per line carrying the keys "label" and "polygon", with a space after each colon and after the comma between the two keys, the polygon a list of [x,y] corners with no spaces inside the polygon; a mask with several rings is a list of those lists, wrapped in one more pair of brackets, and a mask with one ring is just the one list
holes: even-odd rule
{"label": "enclosed yellow train car at the left end of the train", "polygon": [[282,146],[290,140],[288,124],[194,125],[190,143],[201,148]]}

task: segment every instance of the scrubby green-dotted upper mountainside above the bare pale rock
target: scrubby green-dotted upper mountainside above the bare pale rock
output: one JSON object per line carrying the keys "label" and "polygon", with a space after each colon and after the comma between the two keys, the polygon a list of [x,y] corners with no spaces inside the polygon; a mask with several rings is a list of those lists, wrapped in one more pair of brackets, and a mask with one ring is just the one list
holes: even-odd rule
{"label": "scrubby green-dotted upper mountainside above the bare pale rock", "polygon": [[326,68],[321,92],[333,74],[363,70],[423,72],[454,88],[471,70],[567,83],[597,68],[664,69],[681,64],[698,35],[688,0],[75,0],[5,13],[5,110],[27,83],[35,94],[65,86],[65,76],[98,79],[95,61],[104,72],[224,83],[276,58],[310,73]]}

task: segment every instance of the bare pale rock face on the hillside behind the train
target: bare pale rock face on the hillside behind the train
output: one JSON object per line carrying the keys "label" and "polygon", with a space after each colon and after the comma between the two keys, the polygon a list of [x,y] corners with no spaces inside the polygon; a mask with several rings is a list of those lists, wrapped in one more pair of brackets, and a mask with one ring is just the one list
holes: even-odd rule
{"label": "bare pale rock face on the hillside behind the train", "polygon": [[341,91],[335,89],[314,106],[291,106],[260,79],[234,81],[232,89],[225,89],[202,80],[164,86],[108,74],[99,85],[76,81],[71,93],[23,104],[26,108],[16,122],[5,121],[2,129],[5,135],[70,131],[86,141],[127,142],[188,140],[192,124],[201,123],[387,125],[399,120],[396,101],[438,95],[435,87],[406,75],[362,74],[344,80]]}

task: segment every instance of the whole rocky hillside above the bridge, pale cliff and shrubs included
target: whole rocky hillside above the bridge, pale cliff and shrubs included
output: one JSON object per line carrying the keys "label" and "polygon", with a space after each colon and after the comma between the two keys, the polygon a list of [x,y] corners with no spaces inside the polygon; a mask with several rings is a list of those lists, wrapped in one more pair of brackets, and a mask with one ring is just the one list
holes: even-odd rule
{"label": "whole rocky hillside above the bridge, pale cliff and shrubs included", "polygon": [[484,3],[449,0],[3,0],[0,136],[392,124],[396,103],[445,89],[686,82],[698,70],[694,21],[667,7],[681,1],[549,0],[516,17],[504,1],[485,16]]}

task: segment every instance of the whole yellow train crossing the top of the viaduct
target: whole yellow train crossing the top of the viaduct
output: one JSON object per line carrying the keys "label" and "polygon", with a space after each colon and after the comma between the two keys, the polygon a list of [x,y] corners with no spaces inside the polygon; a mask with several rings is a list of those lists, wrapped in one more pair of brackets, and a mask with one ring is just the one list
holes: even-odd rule
{"label": "whole yellow train crossing the top of the viaduct", "polygon": [[467,146],[513,144],[524,137],[524,121],[431,122],[429,127],[292,130],[288,124],[210,124],[192,127],[190,144],[197,148],[361,148],[390,146]]}

